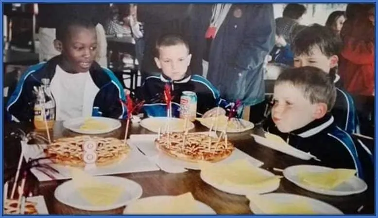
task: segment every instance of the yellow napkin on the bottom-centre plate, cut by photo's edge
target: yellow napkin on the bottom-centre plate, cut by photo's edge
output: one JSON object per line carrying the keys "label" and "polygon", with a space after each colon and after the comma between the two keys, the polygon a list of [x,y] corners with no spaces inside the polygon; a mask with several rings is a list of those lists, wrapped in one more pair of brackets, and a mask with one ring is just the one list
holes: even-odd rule
{"label": "yellow napkin on the bottom-centre plate, cut by photo's edge", "polygon": [[127,208],[130,214],[199,214],[197,202],[190,192],[168,198],[145,198]]}

